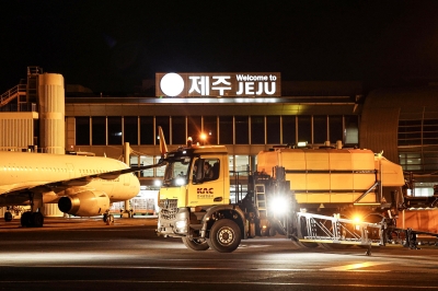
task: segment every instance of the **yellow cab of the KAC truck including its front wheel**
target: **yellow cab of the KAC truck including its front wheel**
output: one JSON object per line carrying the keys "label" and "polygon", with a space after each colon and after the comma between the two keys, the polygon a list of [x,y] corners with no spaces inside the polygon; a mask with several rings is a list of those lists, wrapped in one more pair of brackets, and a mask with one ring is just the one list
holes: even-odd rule
{"label": "yellow cab of the KAC truck including its front wheel", "polygon": [[[244,236],[245,216],[230,201],[227,148],[189,144],[168,152],[163,162],[157,233],[182,237],[195,251],[210,246],[219,252],[235,249]],[[226,225],[212,228],[219,220]]]}

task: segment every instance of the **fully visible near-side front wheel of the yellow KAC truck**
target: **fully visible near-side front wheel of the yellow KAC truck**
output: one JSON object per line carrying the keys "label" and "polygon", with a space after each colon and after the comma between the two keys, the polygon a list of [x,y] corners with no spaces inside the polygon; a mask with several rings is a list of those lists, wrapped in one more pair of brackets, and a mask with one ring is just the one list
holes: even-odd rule
{"label": "fully visible near-side front wheel of the yellow KAC truck", "polygon": [[219,253],[231,253],[240,245],[241,234],[238,224],[229,219],[221,219],[212,224],[208,245]]}

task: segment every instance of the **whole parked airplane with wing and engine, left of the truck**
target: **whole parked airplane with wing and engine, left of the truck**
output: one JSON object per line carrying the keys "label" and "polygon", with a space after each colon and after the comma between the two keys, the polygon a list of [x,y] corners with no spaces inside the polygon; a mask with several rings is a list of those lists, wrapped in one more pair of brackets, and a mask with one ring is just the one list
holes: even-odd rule
{"label": "whole parked airplane with wing and engine, left of the truck", "polygon": [[[58,203],[59,210],[80,217],[103,214],[111,203],[129,200],[140,190],[132,172],[160,164],[128,167],[99,156],[0,151],[0,207],[31,205],[21,217],[23,226],[44,224],[43,203]],[[11,220],[7,212],[4,219]]]}

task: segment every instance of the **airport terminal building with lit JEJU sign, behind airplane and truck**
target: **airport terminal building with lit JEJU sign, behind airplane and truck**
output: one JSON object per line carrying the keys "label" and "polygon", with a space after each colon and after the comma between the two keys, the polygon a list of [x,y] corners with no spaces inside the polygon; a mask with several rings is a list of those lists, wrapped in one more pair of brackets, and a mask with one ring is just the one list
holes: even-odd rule
{"label": "airport terminal building with lit JEJU sign, behind airplane and truck", "polygon": [[[149,93],[118,97],[89,94],[66,85],[59,73],[30,67],[27,79],[1,95],[0,149],[122,160],[129,142],[129,163],[148,165],[159,159],[161,126],[170,150],[188,137],[227,146],[230,170],[255,170],[257,153],[273,147],[341,141],[383,151],[414,177],[416,196],[433,195],[438,184],[438,85],[366,92],[360,82],[292,82],[272,72],[180,73],[181,88],[170,92],[166,75],[145,82]],[[163,168],[138,175],[143,189],[153,191]]]}

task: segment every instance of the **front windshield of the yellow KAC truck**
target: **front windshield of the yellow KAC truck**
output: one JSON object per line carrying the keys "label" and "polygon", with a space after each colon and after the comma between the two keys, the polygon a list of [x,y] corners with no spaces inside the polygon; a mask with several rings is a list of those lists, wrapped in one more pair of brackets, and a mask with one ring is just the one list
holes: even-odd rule
{"label": "front windshield of the yellow KAC truck", "polygon": [[177,156],[168,161],[163,186],[182,186],[188,183],[189,156]]}

